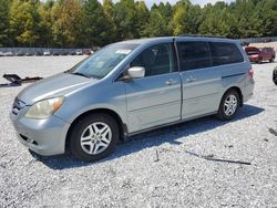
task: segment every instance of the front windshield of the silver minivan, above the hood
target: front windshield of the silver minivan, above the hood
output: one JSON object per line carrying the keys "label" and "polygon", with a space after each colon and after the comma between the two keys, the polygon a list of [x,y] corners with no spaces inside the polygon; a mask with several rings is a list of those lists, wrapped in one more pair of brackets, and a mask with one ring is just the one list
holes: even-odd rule
{"label": "front windshield of the silver minivan, above the hood", "polygon": [[111,44],[81,61],[69,73],[86,77],[102,79],[124,60],[138,44]]}

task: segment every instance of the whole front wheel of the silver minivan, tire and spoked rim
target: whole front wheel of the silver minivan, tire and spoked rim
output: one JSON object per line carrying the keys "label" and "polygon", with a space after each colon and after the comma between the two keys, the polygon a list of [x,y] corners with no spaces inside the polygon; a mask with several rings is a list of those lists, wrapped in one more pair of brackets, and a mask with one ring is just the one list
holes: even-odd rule
{"label": "whole front wheel of the silver minivan, tire and spoked rim", "polygon": [[112,116],[91,114],[73,126],[70,135],[71,154],[83,162],[100,160],[115,149],[119,135],[117,123]]}

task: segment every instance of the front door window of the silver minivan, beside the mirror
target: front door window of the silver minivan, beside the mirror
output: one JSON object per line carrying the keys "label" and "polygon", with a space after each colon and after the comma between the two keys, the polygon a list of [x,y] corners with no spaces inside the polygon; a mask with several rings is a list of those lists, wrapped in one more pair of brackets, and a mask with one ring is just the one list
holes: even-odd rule
{"label": "front door window of the silver minivan, beside the mirror", "polygon": [[165,74],[174,71],[172,44],[158,44],[143,51],[131,66],[145,67],[145,76]]}

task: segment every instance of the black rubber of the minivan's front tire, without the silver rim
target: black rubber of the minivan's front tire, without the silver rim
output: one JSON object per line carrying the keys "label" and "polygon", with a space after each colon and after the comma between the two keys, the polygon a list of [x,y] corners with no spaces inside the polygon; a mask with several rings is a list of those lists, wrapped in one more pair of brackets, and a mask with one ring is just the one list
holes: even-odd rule
{"label": "black rubber of the minivan's front tire, without the silver rim", "polygon": [[[110,144],[105,147],[105,149],[99,154],[89,154],[85,153],[83,147],[81,146],[81,137],[83,134],[85,134],[85,129],[95,123],[103,123],[107,125],[111,129],[111,141]],[[95,132],[95,131],[94,131]],[[79,160],[83,162],[96,162],[100,160],[107,155],[110,155],[114,149],[119,142],[119,126],[115,119],[103,113],[96,113],[88,115],[83,118],[81,118],[72,128],[71,135],[70,135],[70,150],[71,154]],[[98,143],[98,142],[95,142]],[[91,147],[92,148],[92,147]],[[93,146],[93,148],[96,148]]]}

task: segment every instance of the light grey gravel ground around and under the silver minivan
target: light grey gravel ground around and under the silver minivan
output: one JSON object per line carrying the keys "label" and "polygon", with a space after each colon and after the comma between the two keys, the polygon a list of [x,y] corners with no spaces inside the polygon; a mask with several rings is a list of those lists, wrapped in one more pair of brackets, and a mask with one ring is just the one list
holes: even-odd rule
{"label": "light grey gravel ground around and under the silver minivan", "polygon": [[[0,75],[48,76],[82,59],[1,58]],[[145,133],[94,164],[31,155],[9,119],[25,85],[0,89],[0,207],[277,207],[276,65],[253,65],[255,96],[235,121]]]}

